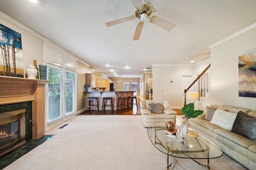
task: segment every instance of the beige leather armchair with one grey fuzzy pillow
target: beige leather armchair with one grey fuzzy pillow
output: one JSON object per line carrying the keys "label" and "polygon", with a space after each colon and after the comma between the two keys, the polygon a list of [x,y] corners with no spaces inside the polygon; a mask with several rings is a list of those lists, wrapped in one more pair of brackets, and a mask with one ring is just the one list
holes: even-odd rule
{"label": "beige leather armchair with one grey fuzzy pillow", "polygon": [[[159,108],[155,109],[156,107]],[[145,127],[165,127],[165,124],[168,121],[176,123],[177,112],[169,109],[169,107],[168,101],[141,100],[140,113],[142,115],[143,125]],[[156,111],[154,111],[154,109]],[[152,113],[150,110],[152,110],[154,113]]]}

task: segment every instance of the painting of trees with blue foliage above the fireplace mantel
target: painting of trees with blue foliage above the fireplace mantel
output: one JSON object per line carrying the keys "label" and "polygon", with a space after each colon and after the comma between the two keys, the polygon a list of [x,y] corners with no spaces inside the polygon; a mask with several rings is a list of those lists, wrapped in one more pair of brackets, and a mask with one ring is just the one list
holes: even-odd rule
{"label": "painting of trees with blue foliage above the fireplace mantel", "polygon": [[0,24],[0,75],[24,78],[21,34]]}

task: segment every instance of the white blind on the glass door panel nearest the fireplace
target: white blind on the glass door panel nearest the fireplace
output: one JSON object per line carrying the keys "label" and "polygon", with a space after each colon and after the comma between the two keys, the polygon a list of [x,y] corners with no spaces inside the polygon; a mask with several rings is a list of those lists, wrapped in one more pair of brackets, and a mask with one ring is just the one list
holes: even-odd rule
{"label": "white blind on the glass door panel nearest the fireplace", "polygon": [[48,69],[48,123],[62,118],[63,71],[49,67]]}

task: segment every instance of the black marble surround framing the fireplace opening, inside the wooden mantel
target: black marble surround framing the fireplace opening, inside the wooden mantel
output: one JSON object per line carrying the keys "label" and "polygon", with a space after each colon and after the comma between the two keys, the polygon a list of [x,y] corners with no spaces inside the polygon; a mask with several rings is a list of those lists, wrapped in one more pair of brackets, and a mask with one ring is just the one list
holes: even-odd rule
{"label": "black marble surround framing the fireplace opening, inside the wooden mantel", "polygon": [[0,113],[15,111],[19,109],[26,109],[25,139],[26,139],[26,142],[28,142],[32,139],[32,122],[29,122],[29,120],[32,120],[32,102],[0,105]]}

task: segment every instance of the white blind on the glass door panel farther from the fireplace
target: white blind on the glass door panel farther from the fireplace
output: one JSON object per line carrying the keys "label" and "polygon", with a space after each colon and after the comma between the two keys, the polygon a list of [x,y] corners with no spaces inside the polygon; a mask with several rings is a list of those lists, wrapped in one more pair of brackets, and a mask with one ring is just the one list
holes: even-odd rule
{"label": "white blind on the glass door panel farther from the fireplace", "polygon": [[65,73],[65,115],[75,112],[75,74],[71,72]]}

